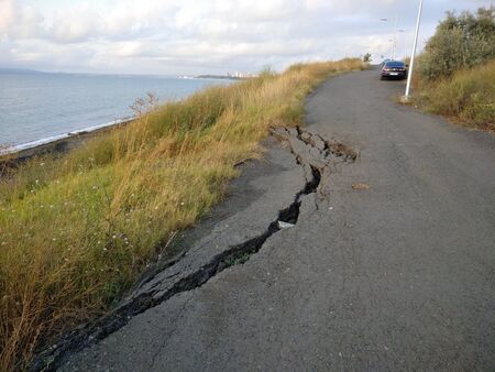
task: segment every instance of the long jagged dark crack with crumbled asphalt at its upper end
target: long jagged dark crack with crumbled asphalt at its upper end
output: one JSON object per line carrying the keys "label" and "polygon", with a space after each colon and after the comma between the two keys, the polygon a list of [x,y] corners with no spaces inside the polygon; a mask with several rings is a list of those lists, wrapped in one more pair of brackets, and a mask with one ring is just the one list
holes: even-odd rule
{"label": "long jagged dark crack with crumbled asphalt at its upper end", "polygon": [[[58,343],[41,352],[34,359],[30,370],[55,371],[69,353],[80,351],[105,339],[124,327],[134,316],[161,305],[175,295],[201,287],[228,267],[245,263],[263,248],[268,238],[298,222],[304,196],[320,194],[320,197],[324,197],[320,186],[326,173],[331,172],[337,164],[352,163],[358,157],[358,153],[343,143],[328,141],[300,128],[274,128],[271,133],[289,147],[297,164],[302,167],[306,178],[306,184],[295,195],[294,201],[278,211],[276,220],[272,221],[258,236],[229,247],[220,254],[212,256],[208,263],[177,280],[169,288],[162,289],[158,281],[151,289],[132,296],[108,316],[66,335]],[[184,254],[180,255],[182,258]],[[179,261],[172,262],[165,270],[173,267]],[[167,280],[176,275],[177,273],[164,277]],[[146,278],[143,284],[151,280],[153,276]]]}

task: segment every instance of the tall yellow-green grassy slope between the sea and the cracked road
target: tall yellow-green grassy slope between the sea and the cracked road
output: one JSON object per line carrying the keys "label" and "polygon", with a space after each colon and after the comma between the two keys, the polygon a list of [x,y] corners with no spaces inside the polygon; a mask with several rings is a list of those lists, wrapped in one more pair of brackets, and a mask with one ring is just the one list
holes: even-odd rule
{"label": "tall yellow-green grassy slope between the sea and the cracked road", "polygon": [[297,65],[212,87],[3,178],[0,370],[114,304],[174,231],[222,199],[233,165],[258,156],[268,127],[299,124],[316,84],[360,68]]}

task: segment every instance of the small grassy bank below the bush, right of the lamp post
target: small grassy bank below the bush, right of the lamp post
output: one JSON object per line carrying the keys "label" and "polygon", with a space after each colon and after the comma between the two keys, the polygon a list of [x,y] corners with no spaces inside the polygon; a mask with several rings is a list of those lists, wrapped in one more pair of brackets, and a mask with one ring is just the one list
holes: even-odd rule
{"label": "small grassy bank below the bush, right of the lamp post", "polygon": [[418,84],[416,102],[453,122],[495,131],[495,61],[454,74],[452,78]]}

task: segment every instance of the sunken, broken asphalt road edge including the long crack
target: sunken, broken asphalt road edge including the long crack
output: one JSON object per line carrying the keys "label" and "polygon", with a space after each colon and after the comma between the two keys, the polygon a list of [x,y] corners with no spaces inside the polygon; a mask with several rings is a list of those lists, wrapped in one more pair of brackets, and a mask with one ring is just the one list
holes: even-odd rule
{"label": "sunken, broken asphalt road edge including the long crack", "polygon": [[[125,335],[128,328],[138,329],[141,333],[141,319],[147,318],[145,313],[150,309],[165,306],[173,297],[194,292],[223,271],[246,263],[274,234],[295,228],[302,203],[310,203],[318,209],[319,203],[328,196],[326,179],[332,172],[337,172],[339,166],[353,163],[358,157],[356,152],[345,145],[327,141],[300,128],[276,128],[272,130],[272,135],[266,143],[268,149],[265,158],[262,162],[245,164],[244,175],[231,187],[231,193],[240,200],[232,200],[231,197],[228,203],[232,204],[230,207],[234,210],[239,209],[238,212],[226,219],[217,217],[210,233],[201,237],[193,247],[185,248],[165,265],[166,269],[142,281],[139,288],[109,316],[68,335],[40,354],[33,369],[55,370],[64,365],[63,370],[134,370],[138,365],[134,357],[138,355],[133,351],[130,359],[128,346],[123,343],[121,347],[125,351],[118,351],[111,362],[100,360],[97,355],[107,358],[108,351],[100,354],[100,350],[105,349],[111,339]],[[246,167],[250,167],[251,172]],[[254,171],[253,167],[266,168],[270,174]],[[252,194],[255,195],[250,195],[245,186],[242,190],[239,189],[241,183],[251,184]],[[245,209],[241,208],[243,204],[249,204]],[[211,226],[211,222],[208,225]],[[134,324],[140,325],[133,326]],[[143,346],[139,336],[134,339]],[[162,336],[156,336],[153,344],[156,344],[158,339],[165,341]],[[125,337],[122,342],[129,341]],[[153,346],[146,344],[146,348],[151,350]],[[145,363],[152,368],[152,361],[146,357],[150,355],[150,350],[140,350],[140,365]],[[98,364],[86,360],[88,355],[94,355]],[[84,361],[80,358],[84,358]]]}

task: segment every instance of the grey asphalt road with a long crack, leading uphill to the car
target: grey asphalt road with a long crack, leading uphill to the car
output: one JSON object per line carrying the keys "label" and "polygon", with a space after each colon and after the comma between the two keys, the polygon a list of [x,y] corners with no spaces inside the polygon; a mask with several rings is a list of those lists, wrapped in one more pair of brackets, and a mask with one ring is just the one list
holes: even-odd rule
{"label": "grey asphalt road with a long crack, leading uphill to the car", "polygon": [[323,84],[127,304],[154,302],[61,370],[493,371],[495,135],[403,88]]}

